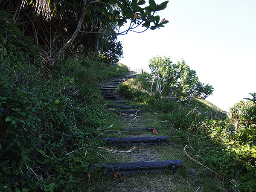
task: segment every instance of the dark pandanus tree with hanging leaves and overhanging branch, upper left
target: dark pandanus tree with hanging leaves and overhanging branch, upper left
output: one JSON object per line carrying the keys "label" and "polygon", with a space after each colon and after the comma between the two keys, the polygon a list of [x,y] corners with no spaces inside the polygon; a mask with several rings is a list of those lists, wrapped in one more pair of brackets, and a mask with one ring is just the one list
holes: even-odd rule
{"label": "dark pandanus tree with hanging leaves and overhanging branch, upper left", "polygon": [[[156,15],[168,1],[149,0],[1,0],[0,9],[12,14],[25,35],[32,36],[45,56],[56,61],[79,49],[85,55],[103,50],[108,39],[128,31],[143,32],[168,23]],[[121,26],[128,23],[121,31]],[[144,27],[137,31],[138,26]]]}

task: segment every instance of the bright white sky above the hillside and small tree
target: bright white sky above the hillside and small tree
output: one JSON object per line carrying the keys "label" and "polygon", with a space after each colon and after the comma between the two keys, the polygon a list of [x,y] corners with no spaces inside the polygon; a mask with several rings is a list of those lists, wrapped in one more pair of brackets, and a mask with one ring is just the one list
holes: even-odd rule
{"label": "bright white sky above the hillside and small tree", "polygon": [[[164,0],[155,0],[160,4]],[[184,58],[199,81],[214,87],[209,102],[228,111],[256,92],[256,0],[170,0],[157,12],[164,28],[120,35],[129,67],[150,73],[151,57]]]}

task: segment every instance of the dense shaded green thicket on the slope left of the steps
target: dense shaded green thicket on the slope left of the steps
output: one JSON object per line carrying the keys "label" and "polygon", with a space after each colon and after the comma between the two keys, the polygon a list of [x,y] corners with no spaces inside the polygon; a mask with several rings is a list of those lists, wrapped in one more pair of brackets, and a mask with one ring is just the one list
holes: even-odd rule
{"label": "dense shaded green thicket on the slope left of the steps", "polygon": [[46,64],[40,48],[0,12],[0,190],[77,191],[108,119],[97,84],[121,64]]}

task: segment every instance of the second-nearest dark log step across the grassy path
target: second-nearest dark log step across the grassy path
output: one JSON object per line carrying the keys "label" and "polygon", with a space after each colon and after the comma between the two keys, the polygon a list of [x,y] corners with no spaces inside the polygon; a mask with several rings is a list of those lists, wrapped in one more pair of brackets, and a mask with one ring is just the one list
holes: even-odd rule
{"label": "second-nearest dark log step across the grassy path", "polygon": [[112,137],[102,138],[102,141],[107,141],[110,145],[159,145],[167,144],[167,137]]}

